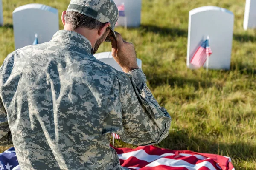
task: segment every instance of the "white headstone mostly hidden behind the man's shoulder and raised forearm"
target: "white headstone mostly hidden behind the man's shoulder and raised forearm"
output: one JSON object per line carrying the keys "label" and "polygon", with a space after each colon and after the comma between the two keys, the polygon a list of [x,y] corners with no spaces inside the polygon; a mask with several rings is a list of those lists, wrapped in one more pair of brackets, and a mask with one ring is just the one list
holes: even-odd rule
{"label": "white headstone mostly hidden behind the man's shoulder and raised forearm", "polygon": [[[97,53],[94,54],[94,57],[96,59],[99,59],[101,62],[104,62],[105,64],[115,68],[117,71],[122,71],[122,68],[117,64],[115,59],[112,57],[111,52]],[[137,59],[137,63],[139,68],[142,68],[142,61],[140,59]]]}

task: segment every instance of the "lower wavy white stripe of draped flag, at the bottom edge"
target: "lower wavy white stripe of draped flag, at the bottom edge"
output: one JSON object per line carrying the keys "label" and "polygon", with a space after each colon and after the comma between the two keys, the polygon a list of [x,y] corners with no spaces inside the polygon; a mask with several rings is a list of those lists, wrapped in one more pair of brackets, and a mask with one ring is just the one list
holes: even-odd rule
{"label": "lower wavy white stripe of draped flag, at the bottom edge", "polygon": [[161,158],[158,159],[157,161],[154,161],[150,164],[148,164],[146,167],[157,167],[159,165],[165,165],[169,167],[185,167],[188,170],[198,170],[201,167],[207,167],[210,170],[216,170],[216,168],[208,161],[203,161],[198,164],[189,164],[186,161],[183,160],[175,160],[175,159],[169,159],[169,158]]}

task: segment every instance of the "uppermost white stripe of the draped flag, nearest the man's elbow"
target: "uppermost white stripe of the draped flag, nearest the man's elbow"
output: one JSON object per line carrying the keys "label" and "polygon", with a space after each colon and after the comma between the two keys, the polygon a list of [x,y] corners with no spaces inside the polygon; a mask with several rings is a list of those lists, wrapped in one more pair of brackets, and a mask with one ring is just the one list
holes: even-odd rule
{"label": "uppermost white stripe of the draped flag, nearest the man's elbow", "polygon": [[145,152],[145,150],[141,149],[141,150],[137,150],[137,151],[132,151],[132,152],[128,152],[128,153],[122,153],[119,154],[118,157],[119,159],[122,160],[127,160],[129,159],[131,156],[140,159],[142,161],[147,161],[147,162],[152,162],[155,161],[157,159],[166,157],[166,156],[173,156],[175,154],[173,153],[165,153],[162,155],[149,155],[148,153]]}

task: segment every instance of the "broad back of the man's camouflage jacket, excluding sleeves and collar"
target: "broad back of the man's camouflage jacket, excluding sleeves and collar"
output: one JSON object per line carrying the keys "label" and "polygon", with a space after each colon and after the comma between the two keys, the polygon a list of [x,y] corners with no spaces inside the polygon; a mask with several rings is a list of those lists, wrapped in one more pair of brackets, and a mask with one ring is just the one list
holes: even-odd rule
{"label": "broad back of the man's camouflage jacket, excluding sleeves and collar", "polygon": [[15,51],[5,62],[1,94],[21,167],[96,169],[113,161],[102,125],[117,71],[88,54],[86,44],[57,41]]}

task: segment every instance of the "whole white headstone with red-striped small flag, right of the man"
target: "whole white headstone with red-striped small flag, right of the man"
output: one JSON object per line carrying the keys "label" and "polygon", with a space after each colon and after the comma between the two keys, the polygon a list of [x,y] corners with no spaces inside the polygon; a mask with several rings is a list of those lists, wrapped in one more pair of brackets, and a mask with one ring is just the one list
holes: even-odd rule
{"label": "whole white headstone with red-striped small flag, right of the man", "polygon": [[230,69],[233,25],[233,13],[224,8],[204,6],[189,11],[187,66],[195,68],[190,61],[209,36],[209,46],[212,49],[209,69]]}

